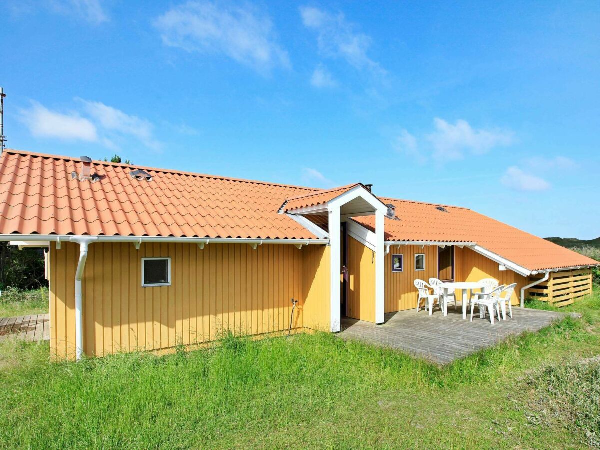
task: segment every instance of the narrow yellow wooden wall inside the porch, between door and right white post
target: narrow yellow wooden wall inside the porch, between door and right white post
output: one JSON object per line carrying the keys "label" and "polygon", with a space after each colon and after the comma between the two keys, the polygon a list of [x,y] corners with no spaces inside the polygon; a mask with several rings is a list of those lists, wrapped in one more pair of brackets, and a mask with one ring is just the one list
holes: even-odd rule
{"label": "narrow yellow wooden wall inside the porch, between door and right white post", "polygon": [[348,238],[347,316],[375,323],[375,252]]}

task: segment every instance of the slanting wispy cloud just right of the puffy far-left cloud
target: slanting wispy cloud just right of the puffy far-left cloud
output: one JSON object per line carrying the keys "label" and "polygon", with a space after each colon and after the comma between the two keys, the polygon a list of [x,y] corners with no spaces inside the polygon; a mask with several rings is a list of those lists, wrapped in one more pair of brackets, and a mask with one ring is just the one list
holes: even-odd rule
{"label": "slanting wispy cloud just right of the puffy far-left cloud", "polygon": [[160,149],[160,143],[154,137],[154,126],[146,119],[130,116],[98,101],[87,101],[81,98],[77,100],[83,104],[88,115],[105,130],[133,136],[148,148]]}

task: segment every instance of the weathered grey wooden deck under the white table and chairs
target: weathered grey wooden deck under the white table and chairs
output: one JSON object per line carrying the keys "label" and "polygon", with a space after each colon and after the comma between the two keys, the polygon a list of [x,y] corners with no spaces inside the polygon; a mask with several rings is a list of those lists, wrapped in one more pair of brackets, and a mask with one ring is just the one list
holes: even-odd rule
{"label": "weathered grey wooden deck under the white table and chairs", "polygon": [[439,310],[434,310],[433,316],[423,310],[386,314],[382,325],[344,317],[338,337],[402,350],[436,364],[449,364],[494,346],[509,335],[538,331],[566,316],[519,307],[513,307],[512,311],[512,319],[506,311],[506,321],[496,320],[494,325],[490,323],[489,314],[480,319],[476,313],[473,322],[470,322],[469,314],[467,320],[463,320],[460,305],[458,311],[449,307],[447,317]]}

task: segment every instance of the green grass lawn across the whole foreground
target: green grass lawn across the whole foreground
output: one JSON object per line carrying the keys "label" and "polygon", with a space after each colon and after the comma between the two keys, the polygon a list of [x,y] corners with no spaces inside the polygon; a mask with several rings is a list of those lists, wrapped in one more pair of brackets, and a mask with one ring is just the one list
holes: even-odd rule
{"label": "green grass lawn across the whole foreground", "polygon": [[77,364],[8,340],[0,447],[586,447],[600,363],[581,361],[600,354],[600,293],[568,310],[583,319],[444,368],[329,334]]}

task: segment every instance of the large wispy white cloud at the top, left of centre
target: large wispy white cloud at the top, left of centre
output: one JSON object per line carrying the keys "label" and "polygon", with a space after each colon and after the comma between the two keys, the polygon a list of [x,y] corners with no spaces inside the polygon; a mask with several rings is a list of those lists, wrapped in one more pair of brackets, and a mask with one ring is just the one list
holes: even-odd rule
{"label": "large wispy white cloud at the top, left of centre", "polygon": [[251,5],[190,1],[158,17],[163,43],[187,52],[224,53],[259,73],[290,67],[275,38],[271,19]]}

